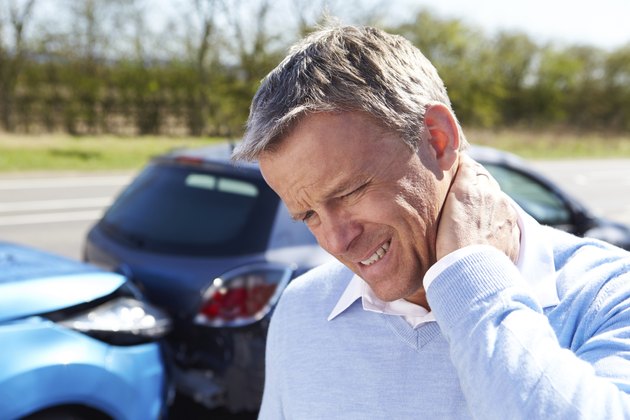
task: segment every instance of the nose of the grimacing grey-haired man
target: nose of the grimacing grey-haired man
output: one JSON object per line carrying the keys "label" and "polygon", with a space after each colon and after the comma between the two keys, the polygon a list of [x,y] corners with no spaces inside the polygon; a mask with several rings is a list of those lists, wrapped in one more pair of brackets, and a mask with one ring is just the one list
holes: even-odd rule
{"label": "nose of the grimacing grey-haired man", "polygon": [[327,212],[320,217],[321,225],[315,237],[321,247],[335,256],[347,253],[361,235],[361,224],[346,212]]}

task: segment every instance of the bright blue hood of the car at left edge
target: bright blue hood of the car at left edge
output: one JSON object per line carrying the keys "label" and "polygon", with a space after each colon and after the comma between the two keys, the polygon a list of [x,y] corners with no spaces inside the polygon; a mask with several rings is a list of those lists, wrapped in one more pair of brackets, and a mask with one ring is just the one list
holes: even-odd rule
{"label": "bright blue hood of the car at left edge", "polygon": [[78,261],[0,242],[0,321],[90,302],[125,281]]}

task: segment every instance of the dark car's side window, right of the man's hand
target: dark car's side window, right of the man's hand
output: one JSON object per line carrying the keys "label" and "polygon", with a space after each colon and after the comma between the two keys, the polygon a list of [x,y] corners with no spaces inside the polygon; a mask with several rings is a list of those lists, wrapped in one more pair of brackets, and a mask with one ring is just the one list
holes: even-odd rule
{"label": "dark car's side window, right of the man's hand", "polygon": [[497,180],[501,189],[543,225],[571,223],[571,212],[553,191],[529,176],[494,164],[484,167]]}

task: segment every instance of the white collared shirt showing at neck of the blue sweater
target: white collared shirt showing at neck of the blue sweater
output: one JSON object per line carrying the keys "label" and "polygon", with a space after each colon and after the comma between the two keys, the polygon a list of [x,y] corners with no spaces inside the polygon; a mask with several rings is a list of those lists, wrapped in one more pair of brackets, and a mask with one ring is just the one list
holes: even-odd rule
{"label": "white collared shirt showing at neck of the blue sweater", "polygon": [[[559,302],[555,282],[553,253],[549,243],[541,236],[540,225],[519,206],[514,205],[518,213],[518,226],[521,233],[521,246],[516,264],[518,270],[532,286],[539,304],[543,307],[557,305]],[[428,289],[433,280],[452,262],[475,250],[475,246],[458,249],[434,264],[424,277],[424,287]],[[337,304],[328,316],[332,320],[361,298],[363,309],[388,315],[402,316],[413,328],[435,321],[433,313],[420,305],[404,299],[385,302],[372,292],[370,286],[356,274],[350,280]]]}

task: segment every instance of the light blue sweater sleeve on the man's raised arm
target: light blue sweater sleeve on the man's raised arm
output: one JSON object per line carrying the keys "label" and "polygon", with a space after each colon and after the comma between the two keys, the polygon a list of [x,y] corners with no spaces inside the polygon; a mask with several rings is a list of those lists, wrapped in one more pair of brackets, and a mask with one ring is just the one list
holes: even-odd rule
{"label": "light blue sweater sleeve on the man's raised arm", "polygon": [[[560,345],[516,267],[492,247],[442,267],[427,297],[473,417],[630,418],[630,396],[619,386],[630,382],[628,297],[572,350]],[[563,323],[597,317],[587,309],[567,314]]]}

